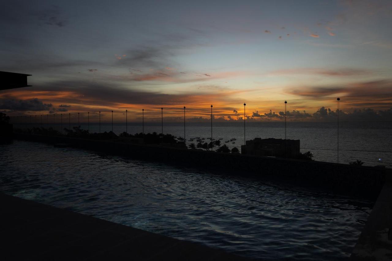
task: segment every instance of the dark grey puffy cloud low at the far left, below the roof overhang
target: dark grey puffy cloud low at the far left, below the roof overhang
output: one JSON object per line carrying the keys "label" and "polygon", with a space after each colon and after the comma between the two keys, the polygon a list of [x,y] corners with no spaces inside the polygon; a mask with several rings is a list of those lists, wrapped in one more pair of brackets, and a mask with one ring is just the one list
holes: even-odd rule
{"label": "dark grey puffy cloud low at the far left, below the roof overhang", "polygon": [[0,109],[11,111],[49,111],[53,109],[51,103],[43,103],[34,98],[32,100],[16,100],[15,98],[0,99]]}

